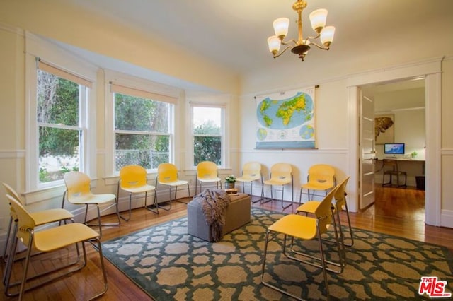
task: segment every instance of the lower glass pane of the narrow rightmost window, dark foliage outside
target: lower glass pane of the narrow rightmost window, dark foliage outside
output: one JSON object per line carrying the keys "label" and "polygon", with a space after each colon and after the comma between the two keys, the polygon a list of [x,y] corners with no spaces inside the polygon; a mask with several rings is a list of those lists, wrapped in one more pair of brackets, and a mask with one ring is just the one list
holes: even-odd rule
{"label": "lower glass pane of the narrow rightmost window, dark foliage outside", "polygon": [[195,166],[202,161],[212,161],[221,165],[222,138],[219,136],[195,136],[193,141],[193,153]]}

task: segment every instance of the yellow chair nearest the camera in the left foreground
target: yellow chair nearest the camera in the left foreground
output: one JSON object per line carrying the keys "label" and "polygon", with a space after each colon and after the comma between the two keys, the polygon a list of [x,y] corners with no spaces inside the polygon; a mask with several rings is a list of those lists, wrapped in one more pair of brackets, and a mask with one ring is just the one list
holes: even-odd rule
{"label": "yellow chair nearest the camera in the left foreground", "polygon": [[[16,233],[16,236],[18,237],[19,240],[25,244],[25,246],[28,247],[26,256],[25,256],[25,266],[23,266],[23,275],[22,275],[22,281],[18,283],[13,283],[9,285],[8,283],[8,288],[11,288],[13,286],[18,286],[20,285],[20,289],[18,293],[10,293],[6,291],[6,295],[9,296],[15,296],[19,295],[18,300],[22,300],[23,295],[25,293],[25,290],[31,290],[33,288],[37,288],[38,286],[44,285],[45,283],[49,283],[51,281],[55,281],[57,278],[62,278],[63,276],[66,276],[70,273],[74,273],[74,271],[79,271],[81,268],[84,268],[86,266],[86,247],[85,247],[85,242],[90,242],[94,243],[96,242],[96,247],[99,252],[99,259],[101,261],[101,270],[103,273],[103,282],[104,282],[104,288],[101,293],[98,293],[96,296],[93,296],[90,298],[90,300],[93,300],[97,297],[100,297],[107,291],[107,275],[105,273],[105,266],[104,266],[104,261],[103,261],[103,256],[102,256],[102,247],[101,247],[101,241],[99,240],[99,234],[94,231],[93,229],[87,227],[86,225],[83,225],[81,223],[69,223],[65,225],[60,225],[59,227],[55,228],[49,228],[45,230],[40,230],[40,231],[35,231],[36,227],[36,222],[33,216],[28,213],[28,211],[25,210],[25,208],[21,205],[19,201],[17,201],[13,196],[6,195],[8,200],[11,203],[11,214],[15,217],[15,220],[17,220],[17,228],[18,231]],[[17,240],[16,240],[17,242]],[[78,244],[81,243],[82,249],[84,251],[84,262],[83,264],[78,264],[80,262],[80,254],[79,254],[79,246]],[[41,273],[38,275],[35,275],[33,277],[27,278],[28,274],[28,267],[30,265],[30,256],[32,252],[54,252],[57,251],[58,249],[63,249],[67,248],[74,244],[77,250],[77,258],[74,262],[71,262],[67,265],[64,266],[59,266],[58,268],[53,269],[52,271],[46,271],[45,273]],[[16,247],[14,245],[13,247]],[[67,256],[67,255],[64,255]],[[14,257],[14,253],[13,253]],[[12,258],[11,265],[14,261],[14,258]],[[69,268],[70,266],[76,266],[76,268]],[[11,266],[9,267],[11,269]],[[25,285],[28,281],[39,278],[40,276],[48,276],[51,273],[57,272],[57,271],[62,271],[62,269],[69,268],[69,271],[66,271],[64,275],[61,273],[58,273],[54,277],[46,277],[46,280],[44,282],[40,282],[38,285],[35,285],[33,287],[25,288]]]}

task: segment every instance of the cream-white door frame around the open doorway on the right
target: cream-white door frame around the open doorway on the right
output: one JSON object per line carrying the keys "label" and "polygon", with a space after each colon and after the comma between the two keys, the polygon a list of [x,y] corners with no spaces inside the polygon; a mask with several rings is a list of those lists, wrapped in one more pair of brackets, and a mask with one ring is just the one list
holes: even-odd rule
{"label": "cream-white door frame around the open doorway on the right", "polygon": [[350,193],[348,207],[357,212],[358,204],[358,164],[359,164],[359,126],[358,105],[360,95],[358,87],[372,83],[385,83],[408,78],[425,78],[425,128],[426,128],[426,167],[425,167],[425,223],[440,225],[441,216],[441,63],[442,58],[397,66],[389,69],[362,73],[348,78],[349,102],[349,162]]}

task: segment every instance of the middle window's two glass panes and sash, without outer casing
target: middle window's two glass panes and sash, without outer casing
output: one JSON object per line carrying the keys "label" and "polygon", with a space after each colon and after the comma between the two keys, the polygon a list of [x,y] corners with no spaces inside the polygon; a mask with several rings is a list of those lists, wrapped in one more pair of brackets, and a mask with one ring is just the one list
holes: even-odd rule
{"label": "middle window's two glass panes and sash, without outer casing", "polygon": [[115,171],[125,165],[147,170],[172,161],[173,105],[163,95],[111,85],[115,120]]}

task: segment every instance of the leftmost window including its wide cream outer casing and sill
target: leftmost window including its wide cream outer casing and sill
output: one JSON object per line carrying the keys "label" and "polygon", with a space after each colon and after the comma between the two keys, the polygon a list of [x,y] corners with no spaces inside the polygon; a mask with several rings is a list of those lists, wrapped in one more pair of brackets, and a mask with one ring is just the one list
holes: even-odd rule
{"label": "leftmost window including its wide cream outer casing and sill", "polygon": [[61,197],[65,172],[96,177],[98,68],[31,33],[25,33],[25,41],[24,195],[29,204]]}

